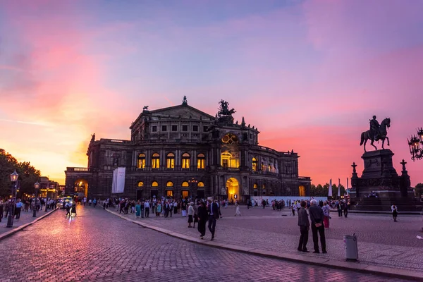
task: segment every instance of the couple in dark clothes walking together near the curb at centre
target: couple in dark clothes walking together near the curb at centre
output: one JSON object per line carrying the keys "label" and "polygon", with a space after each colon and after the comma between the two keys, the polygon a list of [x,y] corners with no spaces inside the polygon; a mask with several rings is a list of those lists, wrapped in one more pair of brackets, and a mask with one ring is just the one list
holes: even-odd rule
{"label": "couple in dark clothes walking together near the curb at centre", "polygon": [[216,230],[216,220],[219,219],[219,204],[213,202],[212,197],[208,197],[207,201],[209,204],[206,207],[204,202],[200,203],[198,207],[198,231],[200,232],[200,238],[204,238],[206,235],[206,222],[209,221],[209,231],[212,233],[212,240],[214,240],[214,231]]}

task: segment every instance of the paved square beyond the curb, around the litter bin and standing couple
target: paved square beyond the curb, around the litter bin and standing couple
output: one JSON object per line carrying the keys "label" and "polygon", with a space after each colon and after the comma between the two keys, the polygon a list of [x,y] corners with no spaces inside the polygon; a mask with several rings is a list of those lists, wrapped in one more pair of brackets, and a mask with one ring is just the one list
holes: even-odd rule
{"label": "paved square beyond the curb, around the litter bin and standing couple", "polygon": [[[221,211],[223,218],[217,221],[216,242],[298,254],[298,217],[291,216],[290,211],[241,207],[243,216],[240,217],[233,216],[233,207]],[[128,216],[135,219],[134,214]],[[338,213],[332,213],[331,217],[331,226],[325,231],[331,259],[345,261],[343,235],[356,233],[360,262],[423,271],[423,240],[416,238],[417,235],[423,235],[419,232],[423,226],[422,216],[399,216],[396,223],[388,215],[349,214],[345,219],[338,218]],[[152,216],[140,221],[194,237],[198,235],[197,228],[188,228],[188,219],[182,218],[180,214],[174,215],[172,219]],[[309,250],[312,250],[312,244],[310,232]],[[326,256],[312,252],[300,255]]]}

